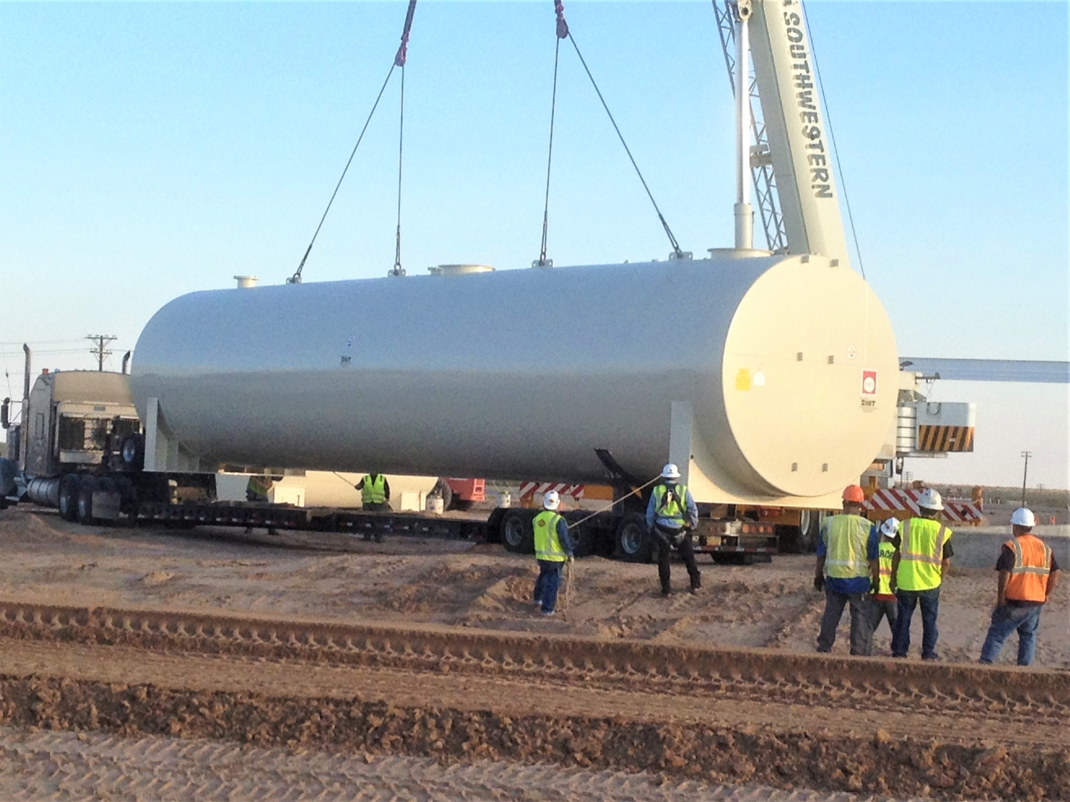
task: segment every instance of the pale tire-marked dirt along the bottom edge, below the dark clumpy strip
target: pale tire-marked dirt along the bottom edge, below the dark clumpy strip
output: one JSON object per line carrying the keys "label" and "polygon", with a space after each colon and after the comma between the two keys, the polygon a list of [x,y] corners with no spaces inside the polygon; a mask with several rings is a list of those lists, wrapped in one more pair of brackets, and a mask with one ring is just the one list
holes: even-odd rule
{"label": "pale tire-marked dirt along the bottom edge, below the dark clumpy strip", "polygon": [[0,727],[5,800],[318,800],[334,802],[854,802],[822,793],[671,781],[501,760],[257,749],[203,738],[121,738]]}

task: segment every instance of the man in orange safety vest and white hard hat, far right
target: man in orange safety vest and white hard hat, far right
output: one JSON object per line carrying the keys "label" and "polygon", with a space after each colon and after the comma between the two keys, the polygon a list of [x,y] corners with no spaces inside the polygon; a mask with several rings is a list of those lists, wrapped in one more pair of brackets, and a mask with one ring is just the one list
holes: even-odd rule
{"label": "man in orange safety vest and white hard hat, far right", "polygon": [[1059,581],[1059,564],[1043,540],[1033,534],[1037,518],[1021,507],[1010,516],[1014,537],[1003,544],[996,570],[999,581],[992,623],[981,647],[981,662],[999,657],[1004,642],[1018,631],[1018,664],[1030,665],[1037,653],[1040,608]]}

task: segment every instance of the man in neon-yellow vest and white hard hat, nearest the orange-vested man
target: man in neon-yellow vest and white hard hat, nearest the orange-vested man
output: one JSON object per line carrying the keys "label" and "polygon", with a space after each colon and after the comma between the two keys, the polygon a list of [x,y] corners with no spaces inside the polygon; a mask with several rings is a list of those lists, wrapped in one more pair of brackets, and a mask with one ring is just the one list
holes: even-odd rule
{"label": "man in neon-yellow vest and white hard hat, nearest the orange-vested man", "polygon": [[891,656],[905,658],[911,649],[911,619],[921,605],[921,659],[938,660],[936,653],[936,616],[939,588],[951,568],[951,529],[939,521],[944,499],[935,490],[918,497],[920,515],[903,522],[902,534],[893,541],[891,589],[899,602],[896,627],[891,633]]}

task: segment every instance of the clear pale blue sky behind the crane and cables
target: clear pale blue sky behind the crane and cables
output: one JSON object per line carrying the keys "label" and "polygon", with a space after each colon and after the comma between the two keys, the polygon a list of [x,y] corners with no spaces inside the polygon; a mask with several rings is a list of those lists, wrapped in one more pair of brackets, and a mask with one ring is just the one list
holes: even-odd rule
{"label": "clear pale blue sky behind the crane and cables", "polygon": [[[808,9],[866,275],[900,352],[1070,357],[1067,4]],[[732,98],[709,3],[567,2],[566,15],[682,246],[698,256],[730,245]],[[403,2],[0,3],[0,359],[11,395],[24,340],[44,365],[90,367],[78,351],[87,334],[118,335],[118,355],[177,295],[232,286],[239,273],[271,283],[292,273],[403,17]],[[406,77],[410,273],[518,268],[538,256],[553,46],[550,0],[422,0]],[[575,53],[562,57],[549,256],[664,258]],[[393,265],[397,107],[394,82],[306,280]],[[1030,473],[1066,487],[1066,390],[998,394],[1022,412],[989,421],[978,448],[1009,437],[1006,447],[941,471],[1012,482],[1020,464],[1006,454],[1046,448]],[[1053,426],[1019,432],[1023,416]],[[1045,431],[1061,443],[1024,442]]]}

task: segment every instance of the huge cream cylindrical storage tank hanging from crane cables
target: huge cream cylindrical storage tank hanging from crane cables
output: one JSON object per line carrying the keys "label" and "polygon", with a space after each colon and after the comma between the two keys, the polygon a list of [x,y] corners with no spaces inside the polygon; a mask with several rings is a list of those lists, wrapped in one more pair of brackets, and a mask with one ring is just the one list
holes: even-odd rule
{"label": "huge cream cylindrical storage tank hanging from crane cables", "polygon": [[588,482],[595,449],[656,475],[687,402],[723,500],[760,500],[857,481],[897,373],[857,274],[767,257],[193,293],[146,326],[131,384],[207,460]]}

